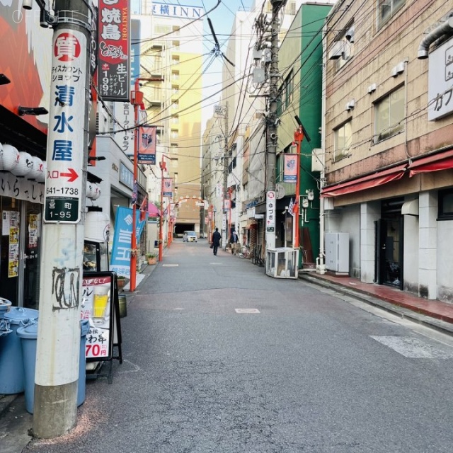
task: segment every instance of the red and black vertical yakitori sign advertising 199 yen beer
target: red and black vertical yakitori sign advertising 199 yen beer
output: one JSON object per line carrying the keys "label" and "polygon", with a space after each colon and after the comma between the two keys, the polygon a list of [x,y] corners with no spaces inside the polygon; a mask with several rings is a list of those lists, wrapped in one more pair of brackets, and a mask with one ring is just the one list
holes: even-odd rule
{"label": "red and black vertical yakitori sign advertising 199 yen beer", "polygon": [[129,0],[99,0],[98,93],[104,101],[129,101]]}

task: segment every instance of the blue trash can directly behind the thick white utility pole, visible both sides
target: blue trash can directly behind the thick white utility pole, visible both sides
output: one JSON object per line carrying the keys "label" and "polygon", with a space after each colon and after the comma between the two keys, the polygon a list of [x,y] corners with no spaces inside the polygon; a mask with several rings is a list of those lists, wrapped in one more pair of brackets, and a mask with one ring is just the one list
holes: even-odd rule
{"label": "blue trash can directly behind the thick white utility pole, visible both sides", "polygon": [[[77,406],[85,401],[85,345],[86,334],[89,330],[89,321],[81,321],[81,338],[79,352],[79,381],[77,382]],[[33,413],[35,404],[35,370],[36,370],[36,344],[38,339],[38,323],[19,327],[17,336],[21,339],[23,351],[23,366],[25,371],[25,408]]]}

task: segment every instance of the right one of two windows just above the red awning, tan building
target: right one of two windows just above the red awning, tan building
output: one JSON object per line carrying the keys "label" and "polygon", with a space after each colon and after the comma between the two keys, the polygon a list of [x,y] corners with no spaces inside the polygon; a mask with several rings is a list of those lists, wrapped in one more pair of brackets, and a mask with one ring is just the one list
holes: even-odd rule
{"label": "right one of two windows just above the red awning, tan building", "polygon": [[374,105],[374,143],[404,130],[404,87],[393,91]]}

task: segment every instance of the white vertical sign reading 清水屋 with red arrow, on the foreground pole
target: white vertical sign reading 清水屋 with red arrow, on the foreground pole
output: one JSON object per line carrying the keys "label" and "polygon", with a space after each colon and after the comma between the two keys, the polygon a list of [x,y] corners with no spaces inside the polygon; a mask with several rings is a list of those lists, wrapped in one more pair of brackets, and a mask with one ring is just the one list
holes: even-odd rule
{"label": "white vertical sign reading \u6e05\u6c34\u5c4b with red arrow, on the foreground pole", "polygon": [[51,93],[45,178],[47,223],[76,224],[81,219],[84,158],[84,105],[86,102],[86,37],[62,29],[53,39]]}

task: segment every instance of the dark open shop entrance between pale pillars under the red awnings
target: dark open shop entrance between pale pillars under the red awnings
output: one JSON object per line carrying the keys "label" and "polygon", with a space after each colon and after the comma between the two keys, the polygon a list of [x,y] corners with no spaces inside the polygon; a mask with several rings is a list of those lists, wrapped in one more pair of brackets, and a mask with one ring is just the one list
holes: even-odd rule
{"label": "dark open shop entrance between pale pillars under the red awnings", "polygon": [[375,281],[403,289],[403,199],[384,200],[375,222]]}

